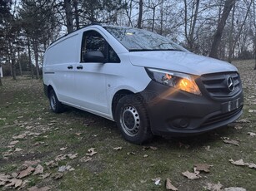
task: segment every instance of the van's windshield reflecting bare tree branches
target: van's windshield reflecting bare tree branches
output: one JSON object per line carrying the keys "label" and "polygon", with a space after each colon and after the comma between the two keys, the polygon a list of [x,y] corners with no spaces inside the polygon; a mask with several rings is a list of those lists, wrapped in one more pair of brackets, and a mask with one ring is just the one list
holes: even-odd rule
{"label": "van's windshield reflecting bare tree branches", "polygon": [[132,27],[104,27],[128,51],[185,51],[167,37]]}

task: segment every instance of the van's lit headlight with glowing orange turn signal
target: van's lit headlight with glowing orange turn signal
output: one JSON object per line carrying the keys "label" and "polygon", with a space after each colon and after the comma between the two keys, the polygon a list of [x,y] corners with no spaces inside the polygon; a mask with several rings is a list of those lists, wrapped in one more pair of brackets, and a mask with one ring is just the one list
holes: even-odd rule
{"label": "van's lit headlight with glowing orange turn signal", "polygon": [[194,81],[193,76],[176,71],[163,71],[153,68],[147,68],[146,71],[153,81],[157,81],[158,83],[171,86],[181,91],[201,95],[201,91]]}

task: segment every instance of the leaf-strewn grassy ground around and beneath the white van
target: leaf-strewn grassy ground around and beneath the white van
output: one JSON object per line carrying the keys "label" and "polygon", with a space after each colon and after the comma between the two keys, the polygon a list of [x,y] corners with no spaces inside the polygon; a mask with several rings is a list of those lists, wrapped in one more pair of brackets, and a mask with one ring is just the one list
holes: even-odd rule
{"label": "leaf-strewn grassy ground around and beneath the white van", "polygon": [[[223,184],[224,188],[242,187],[256,190],[256,169],[236,166],[228,160],[243,159],[256,164],[256,71],[253,61],[237,61],[244,89],[244,114],[250,123],[234,123],[222,130],[192,138],[165,140],[156,137],[151,144],[129,144],[119,134],[116,125],[96,115],[68,108],[60,115],[48,108],[43,95],[43,81],[3,78],[0,87],[0,174],[20,172],[25,161],[39,159],[46,179],[28,175],[23,182],[51,190],[165,190],[164,180],[169,178],[178,190],[206,190],[210,184]],[[234,127],[240,127],[237,130]],[[13,148],[8,148],[13,137],[24,135]],[[224,144],[222,137],[238,140],[239,146]],[[145,148],[146,146],[146,148]],[[157,147],[157,150],[148,148]],[[120,150],[113,148],[122,147]],[[22,149],[14,152],[15,149]],[[63,149],[66,148],[66,149]],[[88,149],[97,154],[88,159]],[[61,150],[63,149],[63,150]],[[8,155],[8,154],[9,155]],[[67,159],[53,167],[45,164],[58,155]],[[78,154],[69,159],[66,154]],[[4,156],[5,155],[5,156]],[[189,180],[182,173],[193,172],[194,164],[211,164],[210,172],[202,178]],[[55,180],[60,166],[70,165],[73,171],[63,172]],[[161,178],[161,185],[152,179]],[[1,189],[7,189],[2,187]]]}

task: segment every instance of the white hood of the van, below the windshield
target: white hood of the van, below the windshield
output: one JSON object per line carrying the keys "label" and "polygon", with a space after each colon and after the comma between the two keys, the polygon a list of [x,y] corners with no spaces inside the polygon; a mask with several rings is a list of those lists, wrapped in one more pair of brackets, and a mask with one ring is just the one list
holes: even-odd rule
{"label": "white hood of the van, below the windshield", "polygon": [[238,71],[226,61],[198,56],[189,51],[132,51],[129,59],[134,66],[179,71],[201,76],[208,73]]}

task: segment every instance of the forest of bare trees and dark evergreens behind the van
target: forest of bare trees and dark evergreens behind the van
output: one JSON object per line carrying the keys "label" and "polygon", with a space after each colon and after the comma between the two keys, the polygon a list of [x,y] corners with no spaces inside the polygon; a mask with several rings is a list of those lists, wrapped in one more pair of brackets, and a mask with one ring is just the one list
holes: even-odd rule
{"label": "forest of bare trees and dark evergreens behind the van", "polygon": [[229,62],[255,59],[256,69],[256,0],[0,0],[4,76],[40,78],[48,45],[92,22],[144,28]]}

